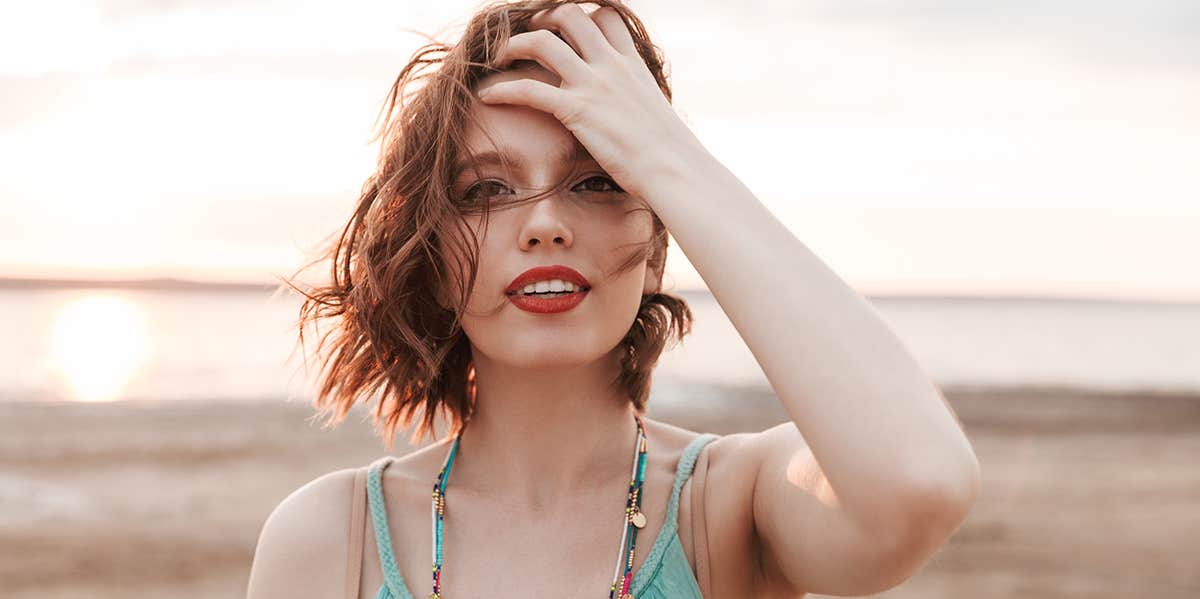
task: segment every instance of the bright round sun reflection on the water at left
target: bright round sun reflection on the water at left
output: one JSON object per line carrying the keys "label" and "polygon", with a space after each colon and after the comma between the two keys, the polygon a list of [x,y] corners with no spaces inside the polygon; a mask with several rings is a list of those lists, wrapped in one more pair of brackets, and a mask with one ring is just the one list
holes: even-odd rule
{"label": "bright round sun reflection on the water at left", "polygon": [[76,401],[113,401],[149,358],[142,309],[112,293],[89,293],[65,304],[50,329],[50,364]]}

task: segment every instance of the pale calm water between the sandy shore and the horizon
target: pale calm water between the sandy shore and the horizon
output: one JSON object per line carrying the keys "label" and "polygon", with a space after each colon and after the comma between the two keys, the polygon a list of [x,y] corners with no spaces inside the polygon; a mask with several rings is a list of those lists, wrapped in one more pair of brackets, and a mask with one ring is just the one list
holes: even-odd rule
{"label": "pale calm water between the sandy shore and the horizon", "polygon": [[[769,389],[714,298],[680,295],[692,333],[661,358],[655,395]],[[1200,391],[1200,304],[870,300],[946,388]],[[305,401],[316,373],[301,365],[298,309],[295,295],[264,292],[0,290],[0,401]]]}

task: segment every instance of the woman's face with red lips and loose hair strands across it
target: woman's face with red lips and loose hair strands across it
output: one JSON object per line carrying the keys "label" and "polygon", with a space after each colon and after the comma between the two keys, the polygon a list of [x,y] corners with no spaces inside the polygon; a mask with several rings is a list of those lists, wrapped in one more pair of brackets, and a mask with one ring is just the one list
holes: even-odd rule
{"label": "woman's face with red lips and loose hair strands across it", "polygon": [[[541,66],[493,73],[480,85],[522,77],[558,85],[558,76]],[[467,167],[451,181],[456,203],[491,204],[486,224],[481,212],[464,212],[480,241],[479,272],[462,317],[473,359],[476,364],[488,360],[530,369],[583,365],[605,357],[629,331],[642,295],[658,290],[658,275],[644,258],[630,270],[617,271],[638,244],[650,239],[648,204],[619,191],[553,115],[526,106],[478,101],[474,115],[476,122],[467,131],[468,148],[457,163],[499,151],[509,157],[510,169],[480,160],[478,174]],[[491,142],[482,130],[491,134]],[[578,162],[572,160],[576,151],[582,152]],[[564,186],[554,193],[511,204],[550,190],[564,178]],[[506,293],[510,283],[534,266],[550,265],[565,265],[586,277],[590,289],[582,301],[550,313],[518,307]]]}

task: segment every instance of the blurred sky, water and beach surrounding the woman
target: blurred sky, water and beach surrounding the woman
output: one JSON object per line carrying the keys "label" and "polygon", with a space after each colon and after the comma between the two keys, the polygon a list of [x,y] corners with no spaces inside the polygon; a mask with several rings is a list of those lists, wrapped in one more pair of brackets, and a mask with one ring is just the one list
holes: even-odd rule
{"label": "blurred sky, water and beach surrounding the woman", "polygon": [[[962,528],[878,597],[1200,597],[1200,4],[629,4],[680,115],[979,456]],[[244,597],[270,510],[386,453],[366,409],[308,420],[277,277],[348,218],[410,30],[476,2],[2,6],[5,597]],[[785,421],[667,270],[696,324],[650,414]]]}

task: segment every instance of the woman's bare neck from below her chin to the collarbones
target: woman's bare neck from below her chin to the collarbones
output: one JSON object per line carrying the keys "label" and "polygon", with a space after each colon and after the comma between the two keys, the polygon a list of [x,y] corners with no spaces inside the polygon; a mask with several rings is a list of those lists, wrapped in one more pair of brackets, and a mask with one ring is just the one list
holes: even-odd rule
{"label": "woman's bare neck from below her chin to the collarbones", "polygon": [[475,360],[475,409],[448,485],[544,507],[628,484],[637,424],[629,399],[608,385],[618,355],[540,370]]}

